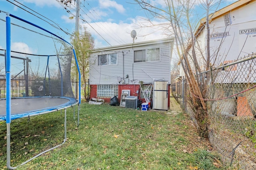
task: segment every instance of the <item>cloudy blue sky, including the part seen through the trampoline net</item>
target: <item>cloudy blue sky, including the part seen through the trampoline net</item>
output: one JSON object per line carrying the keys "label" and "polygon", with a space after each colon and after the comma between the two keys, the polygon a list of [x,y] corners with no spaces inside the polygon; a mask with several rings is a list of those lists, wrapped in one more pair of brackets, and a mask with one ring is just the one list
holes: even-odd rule
{"label": "cloudy blue sky, including the part seen through the trampoline net", "polygon": [[[30,21],[66,41],[70,42],[70,34],[76,29],[76,3],[64,4],[68,0],[0,0],[0,49],[6,49],[5,20],[8,12],[14,16]],[[218,0],[216,0],[218,1]],[[218,7],[224,8],[236,0],[222,0]],[[77,2],[77,0],[76,0]],[[195,13],[191,14],[194,24],[204,17],[204,10],[200,8],[202,0],[195,0],[198,4]],[[150,3],[163,8],[164,0],[150,0]],[[73,19],[70,17],[75,16]],[[149,41],[166,38],[162,30],[151,27],[140,27],[147,15],[134,0],[80,0],[79,30],[84,28],[94,37],[94,48],[129,44],[133,42],[131,31],[137,33],[134,42]],[[32,54],[52,54],[58,49],[58,41],[54,36],[28,25],[20,20],[11,19],[11,50]],[[152,18],[153,23],[161,23]],[[0,50],[0,53],[3,51]],[[175,53],[175,51],[174,51]],[[18,56],[19,57],[19,56]],[[26,57],[20,55],[20,57]],[[4,62],[0,58],[0,64]],[[20,66],[17,66],[17,68]]]}

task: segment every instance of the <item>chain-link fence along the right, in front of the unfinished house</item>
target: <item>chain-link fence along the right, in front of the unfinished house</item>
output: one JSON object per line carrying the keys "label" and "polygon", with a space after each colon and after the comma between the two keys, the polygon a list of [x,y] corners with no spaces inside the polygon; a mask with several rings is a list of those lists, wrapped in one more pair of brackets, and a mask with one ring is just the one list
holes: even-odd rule
{"label": "chain-link fence along the right, in front of the unfinished house", "polygon": [[[171,91],[193,119],[186,105],[186,80],[179,78]],[[238,61],[198,75],[209,117],[209,140],[225,165],[237,169],[256,169],[256,56],[255,53]],[[206,84],[204,84],[206,83]],[[205,88],[206,87],[206,88]],[[185,94],[185,95],[183,95]]]}

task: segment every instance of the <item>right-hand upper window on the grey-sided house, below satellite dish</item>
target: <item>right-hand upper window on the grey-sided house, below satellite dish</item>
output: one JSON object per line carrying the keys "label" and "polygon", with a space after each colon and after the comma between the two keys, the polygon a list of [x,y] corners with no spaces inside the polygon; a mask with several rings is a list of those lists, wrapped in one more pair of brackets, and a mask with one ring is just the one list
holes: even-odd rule
{"label": "right-hand upper window on the grey-sided house, below satellite dish", "polygon": [[134,51],[134,63],[160,61],[160,48]]}

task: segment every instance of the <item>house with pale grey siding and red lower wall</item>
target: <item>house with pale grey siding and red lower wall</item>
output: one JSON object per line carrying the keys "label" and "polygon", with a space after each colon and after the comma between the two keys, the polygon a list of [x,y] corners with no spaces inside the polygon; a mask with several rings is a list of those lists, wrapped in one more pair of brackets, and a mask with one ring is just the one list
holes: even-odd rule
{"label": "house with pale grey siding and red lower wall", "polygon": [[130,90],[130,96],[143,102],[140,85],[153,81],[170,84],[173,41],[166,38],[94,49],[90,56],[90,98],[110,102],[117,96],[120,102],[122,90]]}

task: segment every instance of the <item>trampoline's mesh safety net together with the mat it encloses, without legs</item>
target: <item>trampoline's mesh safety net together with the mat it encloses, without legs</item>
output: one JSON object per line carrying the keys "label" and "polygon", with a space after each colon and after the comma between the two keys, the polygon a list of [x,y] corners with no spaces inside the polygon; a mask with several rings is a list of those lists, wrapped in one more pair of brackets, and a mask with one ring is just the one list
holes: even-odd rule
{"label": "trampoline's mesh safety net together with the mat it encloses, without legs", "polygon": [[[0,44],[0,108],[4,111],[0,113],[0,120],[6,120],[6,98],[9,93],[11,119],[77,104],[74,90],[78,83],[75,77],[79,68],[70,43],[29,22],[21,22],[16,16],[10,18],[9,92],[6,83],[7,33],[4,35],[6,37],[1,37],[3,44]],[[0,26],[4,33],[6,21],[0,22],[0,25],[4,25]],[[19,115],[14,117],[14,114]]]}

